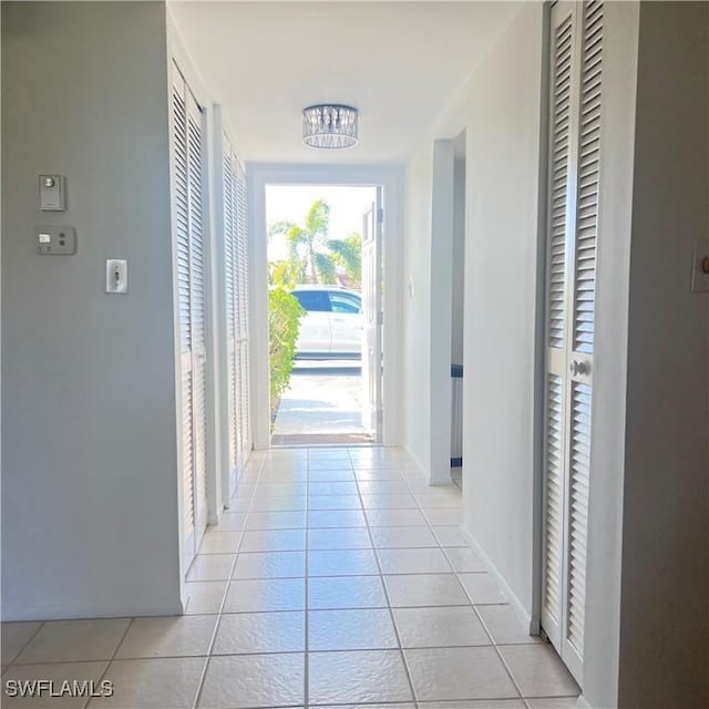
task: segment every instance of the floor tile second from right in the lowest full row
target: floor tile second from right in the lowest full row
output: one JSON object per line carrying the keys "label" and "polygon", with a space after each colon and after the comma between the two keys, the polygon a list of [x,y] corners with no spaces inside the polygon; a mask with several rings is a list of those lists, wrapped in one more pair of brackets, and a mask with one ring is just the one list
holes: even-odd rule
{"label": "floor tile second from right in the lowest full row", "polygon": [[520,696],[493,647],[404,650],[404,656],[420,700]]}

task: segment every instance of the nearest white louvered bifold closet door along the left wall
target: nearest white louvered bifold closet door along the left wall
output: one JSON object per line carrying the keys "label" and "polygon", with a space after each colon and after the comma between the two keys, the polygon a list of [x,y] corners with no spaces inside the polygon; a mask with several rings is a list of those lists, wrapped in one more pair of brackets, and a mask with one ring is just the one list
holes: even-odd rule
{"label": "nearest white louvered bifold closet door along the left wall", "polygon": [[173,202],[177,251],[184,555],[206,526],[205,157],[202,111],[173,68]]}

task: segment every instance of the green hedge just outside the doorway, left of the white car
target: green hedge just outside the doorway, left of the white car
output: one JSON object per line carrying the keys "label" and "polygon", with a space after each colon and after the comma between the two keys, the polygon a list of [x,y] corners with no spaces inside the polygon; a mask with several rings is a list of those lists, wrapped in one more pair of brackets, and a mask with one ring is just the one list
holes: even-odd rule
{"label": "green hedge just outside the doorway, left of the white car", "polygon": [[275,411],[280,395],[288,389],[300,317],[305,310],[282,288],[268,291],[268,333],[270,362],[270,408]]}

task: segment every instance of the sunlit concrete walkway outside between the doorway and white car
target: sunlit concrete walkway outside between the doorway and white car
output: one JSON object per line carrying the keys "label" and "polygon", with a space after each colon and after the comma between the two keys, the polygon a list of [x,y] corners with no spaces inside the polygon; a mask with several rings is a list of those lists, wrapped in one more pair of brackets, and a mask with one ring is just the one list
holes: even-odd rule
{"label": "sunlit concrete walkway outside between the doorway and white car", "polygon": [[278,407],[274,442],[294,442],[292,436],[304,435],[364,433],[359,361],[296,360],[290,388]]}

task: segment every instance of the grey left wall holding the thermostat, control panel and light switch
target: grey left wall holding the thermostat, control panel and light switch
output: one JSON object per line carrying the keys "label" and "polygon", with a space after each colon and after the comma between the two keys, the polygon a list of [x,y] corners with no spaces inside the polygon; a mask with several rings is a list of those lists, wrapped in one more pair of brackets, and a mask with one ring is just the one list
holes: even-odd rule
{"label": "grey left wall holding the thermostat, control panel and light switch", "polygon": [[[164,4],[2,12],[3,619],[179,613]],[[37,256],[41,224],[78,254]]]}

